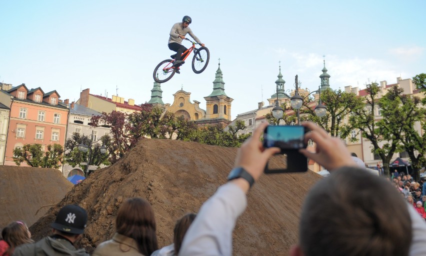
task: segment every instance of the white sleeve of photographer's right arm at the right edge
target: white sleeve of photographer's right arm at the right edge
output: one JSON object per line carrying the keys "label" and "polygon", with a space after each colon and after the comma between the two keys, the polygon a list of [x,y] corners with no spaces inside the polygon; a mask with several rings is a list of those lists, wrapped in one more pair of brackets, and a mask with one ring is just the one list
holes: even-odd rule
{"label": "white sleeve of photographer's right arm at the right edge", "polygon": [[409,256],[426,255],[426,222],[420,217],[412,205],[407,204],[411,218],[412,240]]}

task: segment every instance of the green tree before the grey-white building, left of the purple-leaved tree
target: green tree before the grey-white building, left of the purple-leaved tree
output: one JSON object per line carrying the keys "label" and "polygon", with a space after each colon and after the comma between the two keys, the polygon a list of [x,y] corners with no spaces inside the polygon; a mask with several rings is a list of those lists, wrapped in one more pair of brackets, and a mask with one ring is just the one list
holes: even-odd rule
{"label": "green tree before the grey-white building, left of the purple-leaved tree", "polygon": [[[97,143],[97,142],[101,143]],[[67,138],[65,141],[65,162],[75,167],[78,165],[81,169],[85,170],[85,165],[80,165],[80,162],[86,162],[90,165],[97,165],[98,167],[101,164],[110,165],[109,161],[109,153],[101,153],[100,147],[101,145],[105,145],[106,148],[110,148],[111,139],[109,135],[103,135],[97,141],[93,141],[91,143],[91,153],[90,159],[87,159],[89,155],[89,151],[83,152],[78,150],[79,144],[90,145],[90,136],[80,134],[78,132],[73,132],[71,137]],[[90,172],[90,171],[89,171]],[[89,174],[89,173],[86,173]]]}

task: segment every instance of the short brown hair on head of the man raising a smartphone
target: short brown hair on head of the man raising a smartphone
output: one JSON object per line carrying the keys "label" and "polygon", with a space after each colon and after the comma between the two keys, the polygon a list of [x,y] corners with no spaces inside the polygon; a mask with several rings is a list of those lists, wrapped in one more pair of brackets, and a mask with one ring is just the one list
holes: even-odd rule
{"label": "short brown hair on head of the man raising a smartphone", "polygon": [[[407,204],[382,177],[342,167],[317,182],[304,202],[300,247],[312,255],[408,255]],[[392,225],[395,220],[398,225]]]}

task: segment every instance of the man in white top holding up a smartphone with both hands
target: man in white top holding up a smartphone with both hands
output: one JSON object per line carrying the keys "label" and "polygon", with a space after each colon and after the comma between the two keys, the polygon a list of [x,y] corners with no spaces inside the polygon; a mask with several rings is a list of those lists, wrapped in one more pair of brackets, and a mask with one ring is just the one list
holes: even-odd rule
{"label": "man in white top holding up a smartphone with both hands", "polygon": [[[201,206],[183,239],[180,255],[232,254],[232,229],[237,217],[246,207],[246,193],[263,173],[269,157],[280,151],[276,147],[262,147],[260,134],[266,125],[260,124],[239,148],[235,168],[231,170],[228,182],[219,187]],[[305,134],[305,142],[312,139],[316,143],[316,149],[315,152],[307,149],[299,151],[334,173],[319,181],[308,193],[308,202],[303,206],[300,220],[300,245],[294,246],[291,255],[309,256],[312,251],[313,255],[337,256],[408,255],[408,252],[411,256],[425,255],[426,223],[403,201],[392,185],[379,176],[357,168],[339,138],[330,137],[324,129],[312,122],[303,125],[310,129]],[[368,185],[365,186],[364,182]],[[321,203],[312,200],[317,193],[324,195],[320,196]],[[336,203],[338,198],[344,200]],[[330,208],[326,209],[324,205],[329,205]],[[391,209],[392,214],[383,214],[389,212],[383,209]],[[327,213],[324,214],[321,210]],[[323,218],[319,219],[321,222],[309,222],[315,215]],[[397,226],[389,225],[396,221]],[[312,223],[307,232],[312,232],[318,240],[311,240],[311,235],[305,233],[306,223]],[[322,231],[323,229],[327,232]],[[356,237],[354,242],[353,233],[369,236],[368,239]],[[358,241],[363,243],[358,244]]]}

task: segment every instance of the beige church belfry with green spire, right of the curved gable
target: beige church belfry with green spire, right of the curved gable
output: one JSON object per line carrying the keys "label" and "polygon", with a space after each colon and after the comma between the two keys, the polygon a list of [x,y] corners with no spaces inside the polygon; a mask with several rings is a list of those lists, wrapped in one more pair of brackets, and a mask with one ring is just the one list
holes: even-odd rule
{"label": "beige church belfry with green spire, right of the curved gable", "polygon": [[216,76],[213,81],[213,91],[210,95],[204,97],[206,101],[205,118],[197,121],[199,125],[205,124],[228,124],[231,122],[231,102],[233,98],[230,98],[225,93],[225,82],[223,81],[222,70],[219,67],[216,70]]}

